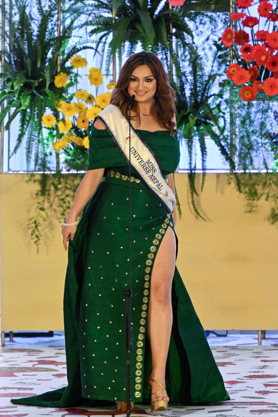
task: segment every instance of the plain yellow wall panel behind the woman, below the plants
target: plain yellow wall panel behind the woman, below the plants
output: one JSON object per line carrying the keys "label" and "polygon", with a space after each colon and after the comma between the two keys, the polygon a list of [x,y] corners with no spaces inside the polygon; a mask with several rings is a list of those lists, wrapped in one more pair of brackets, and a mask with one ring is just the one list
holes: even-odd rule
{"label": "plain yellow wall panel behind the woman, below the plants", "polygon": [[[36,253],[27,222],[37,186],[26,178],[0,176],[1,330],[63,330],[68,252],[53,211]],[[226,175],[208,174],[199,205],[204,222],[191,208],[187,175],[175,174],[175,186],[182,210],[177,267],[203,327],[278,329],[278,228],[267,221],[269,204],[246,214],[244,196]]]}

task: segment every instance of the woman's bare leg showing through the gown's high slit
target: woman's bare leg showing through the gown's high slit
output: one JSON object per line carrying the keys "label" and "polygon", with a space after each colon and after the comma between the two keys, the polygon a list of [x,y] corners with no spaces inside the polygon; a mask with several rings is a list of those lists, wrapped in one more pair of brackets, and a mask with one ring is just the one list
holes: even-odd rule
{"label": "woman's bare leg showing through the gown's high slit", "polygon": [[[152,354],[151,378],[165,385],[165,367],[173,322],[171,287],[175,270],[176,241],[173,229],[168,226],[155,256],[150,283],[147,334]],[[152,392],[161,387],[150,382]],[[166,391],[165,391],[166,394]],[[157,397],[156,399],[167,399]]]}

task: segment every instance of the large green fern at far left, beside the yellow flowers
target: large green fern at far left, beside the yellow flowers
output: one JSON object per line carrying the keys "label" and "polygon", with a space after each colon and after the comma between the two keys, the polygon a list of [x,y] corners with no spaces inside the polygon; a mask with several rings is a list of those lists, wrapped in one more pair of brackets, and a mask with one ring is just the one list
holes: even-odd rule
{"label": "large green fern at far left, beside the yellow flowers", "polygon": [[39,15],[35,25],[30,9],[25,3],[20,3],[18,20],[10,26],[8,38],[11,43],[5,45],[4,72],[0,74],[4,80],[0,104],[5,103],[0,125],[4,123],[8,112],[11,114],[5,123],[6,130],[14,118],[20,115],[18,138],[10,157],[18,151],[26,135],[27,170],[30,171],[33,158],[34,169],[45,172],[49,169],[49,155],[41,120],[45,109],[55,110],[57,101],[61,99],[62,90],[54,84],[54,77],[58,73],[58,55],[63,53],[60,70],[70,78],[68,86],[74,85],[76,74],[66,64],[74,54],[90,46],[75,43],[67,48],[75,29],[74,15],[68,24],[63,25],[60,36],[56,34],[58,0],[49,0],[47,8],[43,8],[40,0],[34,3]]}

